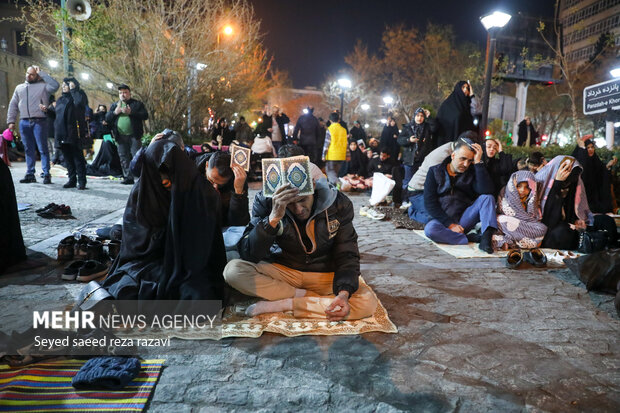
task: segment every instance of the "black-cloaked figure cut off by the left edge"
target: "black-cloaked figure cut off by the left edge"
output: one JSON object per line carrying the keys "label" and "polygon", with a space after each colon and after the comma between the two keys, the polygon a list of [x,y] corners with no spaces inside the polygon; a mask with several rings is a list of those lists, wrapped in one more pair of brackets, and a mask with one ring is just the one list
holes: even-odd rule
{"label": "black-cloaked figure cut off by the left edge", "polygon": [[26,259],[11,171],[0,159],[0,274]]}

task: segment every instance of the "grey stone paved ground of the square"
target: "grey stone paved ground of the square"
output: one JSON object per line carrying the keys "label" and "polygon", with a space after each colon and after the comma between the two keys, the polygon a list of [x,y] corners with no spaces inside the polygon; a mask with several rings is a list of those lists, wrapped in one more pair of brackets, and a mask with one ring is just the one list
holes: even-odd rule
{"label": "grey stone paved ground of the square", "polygon": [[[17,181],[23,167],[13,174]],[[59,184],[16,184],[19,202],[69,202],[78,218],[51,223],[20,213],[28,246],[53,254],[54,240],[75,224],[115,221],[129,188],[89,186],[82,194]],[[367,196],[352,200],[359,209]],[[456,260],[390,222],[356,216],[354,224],[362,275],[398,334],[181,343],[192,355],[162,355],[166,368],[149,411],[620,410],[612,297],[588,294],[565,269]],[[36,271],[0,277],[0,286],[5,295],[10,289],[35,300],[75,294],[79,286],[58,277],[48,260]]]}

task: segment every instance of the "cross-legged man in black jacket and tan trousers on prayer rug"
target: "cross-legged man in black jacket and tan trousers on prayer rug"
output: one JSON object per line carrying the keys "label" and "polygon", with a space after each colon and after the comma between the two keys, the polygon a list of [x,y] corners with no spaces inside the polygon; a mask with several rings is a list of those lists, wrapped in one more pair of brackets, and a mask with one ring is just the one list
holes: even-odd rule
{"label": "cross-legged man in black jacket and tan trousers on prayer rug", "polygon": [[351,201],[325,179],[313,195],[298,192],[287,184],[273,198],[256,195],[238,246],[241,259],[226,266],[226,282],[268,300],[248,307],[248,316],[280,311],[330,321],[371,316],[377,300],[359,285]]}

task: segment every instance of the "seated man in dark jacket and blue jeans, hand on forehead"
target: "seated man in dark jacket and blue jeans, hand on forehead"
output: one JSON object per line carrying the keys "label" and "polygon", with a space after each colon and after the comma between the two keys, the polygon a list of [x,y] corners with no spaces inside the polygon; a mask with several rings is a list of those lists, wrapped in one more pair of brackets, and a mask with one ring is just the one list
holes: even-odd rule
{"label": "seated man in dark jacket and blue jeans, hand on forehead", "polygon": [[424,183],[424,206],[433,219],[424,227],[424,233],[435,242],[467,244],[465,234],[480,222],[482,237],[478,248],[492,254],[491,238],[497,229],[494,186],[482,162],[482,153],[480,145],[459,138],[452,155],[429,169]]}

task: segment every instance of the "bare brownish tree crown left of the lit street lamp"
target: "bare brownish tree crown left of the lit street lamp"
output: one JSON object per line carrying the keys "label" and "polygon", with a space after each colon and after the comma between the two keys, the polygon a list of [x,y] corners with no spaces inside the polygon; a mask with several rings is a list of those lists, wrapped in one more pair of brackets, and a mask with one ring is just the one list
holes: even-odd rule
{"label": "bare brownish tree crown left of the lit street lamp", "polygon": [[345,61],[368,93],[389,93],[407,121],[420,106],[438,108],[459,80],[482,86],[482,53],[473,44],[457,44],[450,26],[429,23],[423,35],[403,25],[388,27],[379,53],[370,54],[358,41]]}

